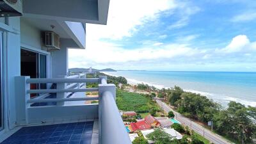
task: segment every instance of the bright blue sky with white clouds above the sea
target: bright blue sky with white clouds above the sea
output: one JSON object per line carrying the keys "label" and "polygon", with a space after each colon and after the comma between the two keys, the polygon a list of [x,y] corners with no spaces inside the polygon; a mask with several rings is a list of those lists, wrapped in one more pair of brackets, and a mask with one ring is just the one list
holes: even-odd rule
{"label": "bright blue sky with white clouds above the sea", "polygon": [[256,71],[254,0],[112,0],[69,67]]}

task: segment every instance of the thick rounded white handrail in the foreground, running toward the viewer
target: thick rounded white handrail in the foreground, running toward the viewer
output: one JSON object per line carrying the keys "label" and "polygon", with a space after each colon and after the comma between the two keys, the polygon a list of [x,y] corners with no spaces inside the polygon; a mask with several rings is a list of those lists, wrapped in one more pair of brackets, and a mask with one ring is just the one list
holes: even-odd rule
{"label": "thick rounded white handrail in the foreground, running toward the viewer", "polygon": [[100,95],[99,118],[102,120],[100,122],[102,134],[99,140],[101,144],[132,144],[113,94],[108,90]]}

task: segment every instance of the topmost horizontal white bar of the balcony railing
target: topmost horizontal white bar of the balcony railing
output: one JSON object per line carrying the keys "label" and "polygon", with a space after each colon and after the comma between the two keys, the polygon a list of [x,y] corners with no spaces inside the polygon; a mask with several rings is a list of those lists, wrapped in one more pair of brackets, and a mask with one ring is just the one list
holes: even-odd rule
{"label": "topmost horizontal white bar of the balcony railing", "polygon": [[32,78],[26,83],[99,83],[99,78]]}

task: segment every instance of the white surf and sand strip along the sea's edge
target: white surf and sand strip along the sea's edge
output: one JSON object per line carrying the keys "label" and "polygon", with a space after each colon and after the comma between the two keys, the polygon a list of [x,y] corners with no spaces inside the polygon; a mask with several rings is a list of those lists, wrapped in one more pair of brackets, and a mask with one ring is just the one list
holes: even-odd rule
{"label": "white surf and sand strip along the sea's edge", "polygon": [[[102,72],[104,74],[107,74],[109,76],[115,76],[115,77],[118,77],[118,75],[115,75],[115,74],[110,74],[109,72]],[[124,76],[122,76],[124,77]],[[148,86],[154,86],[156,87],[157,89],[161,90],[162,88],[172,88],[172,87],[168,87],[168,86],[164,86],[164,85],[161,85],[161,84],[152,84],[150,82],[146,82],[146,81],[138,81],[136,79],[131,79],[131,78],[128,78],[128,77],[125,77],[125,79],[127,79],[127,83],[128,84],[131,84],[131,85],[136,85],[136,84],[148,84]],[[180,87],[182,88],[182,87]],[[256,102],[255,101],[248,101],[248,100],[244,100],[244,99],[239,99],[239,98],[236,98],[236,97],[230,97],[228,95],[223,95],[223,99],[214,99],[214,93],[209,93],[209,92],[202,92],[202,91],[198,91],[198,90],[186,90],[184,88],[182,88],[184,90],[184,92],[191,92],[191,93],[196,93],[196,94],[200,94],[202,96],[205,96],[207,97],[208,99],[211,99],[213,100],[214,102],[217,102],[219,104],[221,104],[221,106],[224,106],[224,107],[227,107],[227,104],[228,102],[230,101],[235,101],[235,102],[239,102],[241,104],[244,104],[245,106],[253,106],[253,107],[256,107]]]}

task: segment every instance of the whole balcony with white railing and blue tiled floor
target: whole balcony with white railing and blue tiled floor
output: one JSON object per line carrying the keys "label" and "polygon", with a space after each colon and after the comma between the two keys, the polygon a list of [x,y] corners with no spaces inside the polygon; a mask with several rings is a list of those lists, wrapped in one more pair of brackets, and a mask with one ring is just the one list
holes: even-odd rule
{"label": "whole balcony with white railing and blue tiled floor", "polygon": [[[56,84],[56,89],[30,90],[30,84],[52,83]],[[99,83],[99,87],[86,88],[86,83]],[[61,143],[63,134],[72,129],[73,133],[68,135],[69,141],[65,143],[131,144],[115,103],[115,84],[108,84],[104,76],[86,78],[85,74],[80,74],[51,79],[18,76],[15,77],[15,90],[20,93],[16,98],[19,131],[3,143],[16,140],[15,136],[18,141],[33,137],[31,143],[36,143],[47,132],[52,133],[48,141],[51,138],[54,142]],[[99,97],[85,97],[85,92],[99,92]],[[31,93],[41,95],[31,98]],[[73,96],[69,97],[70,95]],[[99,104],[85,104],[84,100],[99,100]],[[73,137],[77,138],[76,130],[82,135],[79,135],[79,140],[72,141]],[[31,135],[36,132],[41,134],[38,138]],[[56,141],[57,137],[53,133],[60,137],[59,141]],[[27,135],[23,136],[24,134]]]}

